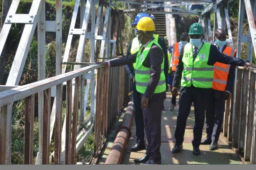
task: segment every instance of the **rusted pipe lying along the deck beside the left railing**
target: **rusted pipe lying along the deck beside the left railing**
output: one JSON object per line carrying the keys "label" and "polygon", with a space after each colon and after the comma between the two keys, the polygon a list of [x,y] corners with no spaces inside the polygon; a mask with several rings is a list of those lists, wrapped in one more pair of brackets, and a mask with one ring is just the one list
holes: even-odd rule
{"label": "rusted pipe lying along the deck beside the left railing", "polygon": [[117,135],[105,164],[120,164],[127,141],[131,137],[131,125],[133,120],[133,99],[128,103],[122,125],[117,129]]}

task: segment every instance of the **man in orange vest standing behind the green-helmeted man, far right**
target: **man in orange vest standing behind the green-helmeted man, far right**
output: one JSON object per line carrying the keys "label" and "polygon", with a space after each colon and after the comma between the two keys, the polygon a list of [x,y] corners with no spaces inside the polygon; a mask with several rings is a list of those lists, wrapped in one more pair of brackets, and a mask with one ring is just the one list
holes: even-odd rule
{"label": "man in orange vest standing behind the green-helmeted man, far right", "polygon": [[[226,31],[217,29],[214,33],[215,46],[219,52],[234,57],[236,50],[226,45]],[[225,100],[229,99],[230,92],[233,91],[235,66],[216,62],[214,64],[214,74],[212,92],[206,103],[206,133],[207,137],[201,141],[201,145],[210,145],[210,150],[218,149],[218,139],[221,133]]]}

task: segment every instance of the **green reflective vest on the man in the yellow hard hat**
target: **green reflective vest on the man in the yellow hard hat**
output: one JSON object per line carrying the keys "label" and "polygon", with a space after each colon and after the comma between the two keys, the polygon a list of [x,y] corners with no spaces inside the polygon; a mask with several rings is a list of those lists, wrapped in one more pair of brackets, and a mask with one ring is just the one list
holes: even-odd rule
{"label": "green reflective vest on the man in the yellow hard hat", "polygon": [[[156,39],[150,41],[143,52],[141,53],[141,49],[138,51],[137,58],[136,58],[136,69],[135,69],[135,82],[136,82],[136,90],[142,94],[145,93],[148,82],[151,78],[151,69],[142,65],[147,54],[150,52],[152,45],[155,44],[159,48],[160,45],[157,43]],[[162,49],[162,48],[161,48]],[[166,80],[165,80],[165,73],[163,72],[164,62],[161,63],[161,73],[159,82],[155,88],[154,94],[161,93],[166,90]]]}

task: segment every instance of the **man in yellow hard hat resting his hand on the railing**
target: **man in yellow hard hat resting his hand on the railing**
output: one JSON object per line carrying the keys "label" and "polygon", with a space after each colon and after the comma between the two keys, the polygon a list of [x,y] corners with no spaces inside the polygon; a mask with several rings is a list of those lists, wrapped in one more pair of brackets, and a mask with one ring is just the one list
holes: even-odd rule
{"label": "man in yellow hard hat resting his hand on the railing", "polygon": [[161,110],[166,98],[166,79],[163,72],[163,51],[153,36],[155,24],[143,17],[136,26],[142,44],[137,54],[99,64],[109,67],[136,63],[136,90],[141,94],[141,107],[146,134],[146,154],[136,163],[161,164]]}

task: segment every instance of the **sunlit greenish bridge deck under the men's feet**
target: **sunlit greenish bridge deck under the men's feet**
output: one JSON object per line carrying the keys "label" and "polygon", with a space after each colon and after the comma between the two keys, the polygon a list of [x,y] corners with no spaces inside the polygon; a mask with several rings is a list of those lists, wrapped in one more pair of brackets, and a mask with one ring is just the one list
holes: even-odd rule
{"label": "sunlit greenish bridge deck under the men's feet", "polygon": [[[178,100],[178,98],[177,98]],[[165,100],[165,110],[162,111],[161,121],[161,156],[162,164],[243,164],[241,159],[233,152],[224,136],[221,134],[219,138],[219,149],[215,151],[209,150],[209,145],[201,145],[201,154],[194,156],[192,154],[193,146],[193,125],[194,125],[194,107],[191,107],[191,112],[187,120],[187,127],[184,135],[183,149],[180,153],[173,154],[171,152],[175,144],[174,132],[176,126],[176,116],[178,107],[176,106],[173,112],[170,112],[169,106],[171,102],[171,93],[167,92]],[[203,137],[206,136],[205,126],[203,129]],[[135,143],[135,123],[132,125],[132,137],[130,138],[126,150],[123,155],[122,164],[134,164],[134,158],[141,158],[145,154],[145,150],[139,152],[130,152],[130,147]]]}

